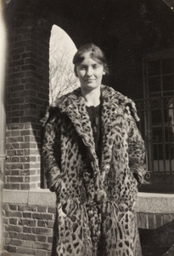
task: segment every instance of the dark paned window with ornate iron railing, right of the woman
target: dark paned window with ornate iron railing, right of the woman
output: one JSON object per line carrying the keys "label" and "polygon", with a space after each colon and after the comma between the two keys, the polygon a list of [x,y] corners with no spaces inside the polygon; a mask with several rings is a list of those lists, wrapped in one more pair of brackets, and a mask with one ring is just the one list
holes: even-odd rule
{"label": "dark paned window with ornate iron railing, right of the woman", "polygon": [[136,101],[147,148],[149,192],[174,192],[174,49],[143,59],[143,100]]}

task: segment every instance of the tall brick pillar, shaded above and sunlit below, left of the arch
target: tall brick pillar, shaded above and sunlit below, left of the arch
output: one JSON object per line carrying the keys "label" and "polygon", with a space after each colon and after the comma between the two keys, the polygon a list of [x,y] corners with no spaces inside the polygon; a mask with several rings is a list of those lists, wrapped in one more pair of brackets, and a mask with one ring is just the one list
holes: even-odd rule
{"label": "tall brick pillar, shaded above and sunlit below, left of the arch", "polygon": [[4,189],[36,189],[41,185],[40,119],[48,106],[48,55],[52,25],[38,16],[36,8],[38,6],[33,2],[18,1],[15,12],[10,3],[6,11],[8,158]]}

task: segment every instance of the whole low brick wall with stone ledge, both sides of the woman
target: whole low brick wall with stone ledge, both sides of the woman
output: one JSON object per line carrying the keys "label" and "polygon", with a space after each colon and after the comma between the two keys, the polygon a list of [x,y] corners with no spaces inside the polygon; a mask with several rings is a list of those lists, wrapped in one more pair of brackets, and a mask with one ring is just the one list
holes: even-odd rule
{"label": "whole low brick wall with stone ledge, both sides of the woman", "polygon": [[[3,190],[3,244],[9,255],[50,255],[55,201],[48,189]],[[139,193],[136,211],[143,256],[162,256],[174,244],[173,207],[173,195]]]}

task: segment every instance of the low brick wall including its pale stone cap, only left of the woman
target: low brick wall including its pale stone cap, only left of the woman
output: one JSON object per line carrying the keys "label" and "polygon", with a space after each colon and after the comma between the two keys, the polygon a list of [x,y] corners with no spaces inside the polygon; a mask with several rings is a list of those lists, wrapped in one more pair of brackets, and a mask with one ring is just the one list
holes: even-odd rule
{"label": "low brick wall including its pale stone cap, only left of the woman", "polygon": [[55,211],[55,194],[48,189],[3,190],[3,245],[9,255],[51,255]]}

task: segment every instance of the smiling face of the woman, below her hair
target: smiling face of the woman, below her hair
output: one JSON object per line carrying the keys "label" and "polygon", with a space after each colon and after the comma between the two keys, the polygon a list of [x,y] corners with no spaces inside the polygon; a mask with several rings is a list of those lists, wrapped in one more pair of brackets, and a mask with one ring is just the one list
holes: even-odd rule
{"label": "smiling face of the woman, below her hair", "polygon": [[88,91],[100,87],[104,75],[104,66],[93,60],[89,54],[84,54],[84,60],[76,67],[81,89]]}

